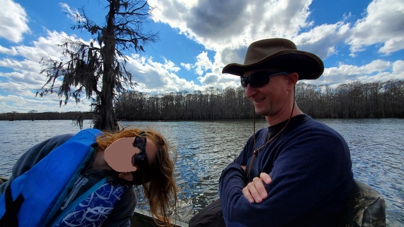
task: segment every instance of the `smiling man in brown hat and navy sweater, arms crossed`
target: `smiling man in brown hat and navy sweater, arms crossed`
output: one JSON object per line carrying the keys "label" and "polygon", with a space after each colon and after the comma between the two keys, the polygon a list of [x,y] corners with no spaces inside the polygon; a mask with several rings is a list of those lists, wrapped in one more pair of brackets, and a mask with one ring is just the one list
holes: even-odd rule
{"label": "smiling man in brown hat and navy sweater, arms crossed", "polygon": [[245,95],[269,127],[252,135],[222,172],[227,226],[334,226],[354,185],[349,148],[337,132],[295,103],[298,80],[321,76],[323,62],[287,39],[251,43],[240,76]]}

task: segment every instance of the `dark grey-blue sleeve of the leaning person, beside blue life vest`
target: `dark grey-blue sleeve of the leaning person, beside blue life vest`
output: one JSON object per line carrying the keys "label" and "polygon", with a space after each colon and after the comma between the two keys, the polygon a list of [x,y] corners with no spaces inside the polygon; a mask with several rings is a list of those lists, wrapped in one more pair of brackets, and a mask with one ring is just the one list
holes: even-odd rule
{"label": "dark grey-blue sleeve of the leaning person, beside blue life vest", "polygon": [[55,136],[43,142],[40,142],[28,149],[14,164],[9,181],[5,184],[0,185],[0,194],[2,194],[5,188],[8,187],[11,180],[23,175],[25,172],[31,169],[32,166],[34,166],[43,157],[45,157],[49,152],[69,140],[72,136],[73,134]]}

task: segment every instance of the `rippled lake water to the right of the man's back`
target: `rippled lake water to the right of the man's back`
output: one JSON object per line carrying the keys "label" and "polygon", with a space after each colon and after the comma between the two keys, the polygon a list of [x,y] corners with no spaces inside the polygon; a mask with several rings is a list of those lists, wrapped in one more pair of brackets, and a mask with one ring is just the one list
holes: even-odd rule
{"label": "rippled lake water to the right of the man's back", "polygon": [[351,152],[354,177],[386,201],[387,226],[404,224],[403,119],[321,120],[337,130]]}

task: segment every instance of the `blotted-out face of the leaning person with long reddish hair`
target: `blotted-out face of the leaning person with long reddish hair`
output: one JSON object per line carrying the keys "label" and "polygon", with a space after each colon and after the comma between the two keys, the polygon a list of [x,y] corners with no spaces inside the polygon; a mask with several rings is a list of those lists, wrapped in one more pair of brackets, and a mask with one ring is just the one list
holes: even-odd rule
{"label": "blotted-out face of the leaning person with long reddish hair", "polygon": [[[117,172],[135,172],[136,169],[146,168],[144,166],[153,163],[156,152],[157,147],[153,141],[140,137],[127,137],[118,139],[108,146],[105,149],[104,158],[108,165]],[[146,161],[144,166],[136,164],[136,157],[139,165],[142,160]]]}

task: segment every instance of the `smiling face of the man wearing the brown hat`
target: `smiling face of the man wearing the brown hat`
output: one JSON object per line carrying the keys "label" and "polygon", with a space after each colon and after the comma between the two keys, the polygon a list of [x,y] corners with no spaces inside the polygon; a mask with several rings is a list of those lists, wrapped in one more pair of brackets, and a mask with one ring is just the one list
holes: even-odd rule
{"label": "smiling face of the man wearing the brown hat", "polygon": [[[271,75],[269,82],[259,86],[252,83],[253,80],[251,79],[251,83],[248,83],[245,88],[245,96],[254,104],[255,111],[259,115],[268,116],[270,118],[279,117],[283,115],[286,108],[290,106],[288,102],[288,100],[290,100],[288,75],[285,73],[277,74],[279,70],[262,69],[247,71],[244,73],[243,77],[252,77],[260,75],[263,72]],[[256,86],[251,86],[251,84]],[[290,114],[290,112],[288,114]]]}

